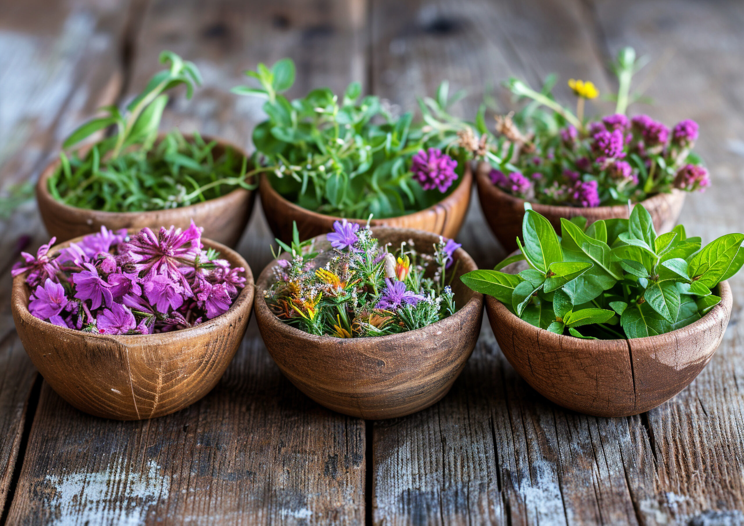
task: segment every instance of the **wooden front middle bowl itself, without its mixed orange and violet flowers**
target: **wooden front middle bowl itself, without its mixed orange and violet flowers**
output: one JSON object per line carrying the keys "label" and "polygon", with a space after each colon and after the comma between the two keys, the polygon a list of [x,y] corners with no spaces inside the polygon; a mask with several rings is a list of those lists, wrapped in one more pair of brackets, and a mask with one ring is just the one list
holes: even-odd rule
{"label": "wooden front middle bowl itself, without its mixed orange and violet flowers", "polygon": [[[413,239],[425,247],[438,240],[436,234],[411,229],[378,227],[373,232],[393,246]],[[316,246],[330,247],[325,237],[318,237]],[[274,280],[274,260],[256,284],[254,309],[266,348],[300,391],[333,411],[381,419],[427,408],[452,387],[481,330],[483,295],[459,280],[477,266],[462,248],[455,260],[460,263],[452,281],[459,307],[454,315],[408,333],[354,339],[313,336],[280,321],[263,295]]]}

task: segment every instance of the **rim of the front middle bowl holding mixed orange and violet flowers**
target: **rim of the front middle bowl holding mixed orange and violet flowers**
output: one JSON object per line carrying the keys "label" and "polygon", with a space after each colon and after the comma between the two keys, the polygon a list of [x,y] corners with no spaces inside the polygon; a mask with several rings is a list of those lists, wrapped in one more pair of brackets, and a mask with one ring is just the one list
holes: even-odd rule
{"label": "rim of the front middle bowl holding mixed orange and violet flowers", "polygon": [[[432,237],[441,237],[437,236],[437,234],[433,234],[429,231],[424,230],[417,230],[416,228],[395,228],[395,227],[388,227],[384,225],[380,226],[373,226],[373,231],[382,231],[382,234],[385,234],[386,232],[396,232],[400,234],[405,233],[411,233],[411,234],[426,234],[427,236]],[[376,234],[379,235],[379,234]],[[325,234],[321,234],[320,236],[315,236],[312,239],[318,240],[318,238],[325,237]],[[280,257],[283,254],[287,254],[287,252],[282,252]],[[454,254],[457,257],[457,260],[461,260],[464,262],[464,272],[465,269],[472,266],[471,270],[477,270],[478,266],[475,264],[475,261],[472,259],[470,254],[468,254],[462,247],[458,248]],[[281,321],[277,316],[274,314],[274,312],[269,309],[269,305],[266,304],[266,298],[264,296],[264,292],[266,292],[266,289],[263,288],[262,282],[264,280],[268,280],[269,276],[272,274],[272,270],[277,265],[277,260],[272,260],[264,269],[261,271],[260,275],[258,276],[255,284],[256,288],[256,295],[254,298],[254,311],[256,312],[256,321],[259,324],[259,326],[264,323],[263,321],[259,321],[261,318],[263,318],[262,315],[259,315],[259,310],[263,313],[268,314],[266,316],[266,324],[270,330],[276,330],[283,332],[285,336],[290,338],[301,338],[301,339],[307,339],[310,341],[313,341],[318,344],[330,344],[330,345],[342,345],[344,347],[347,347],[348,345],[353,344],[362,344],[362,342],[369,342],[369,341],[379,341],[379,342],[385,342],[385,341],[393,341],[395,339],[401,339],[401,338],[409,338],[411,336],[415,336],[418,334],[421,334],[423,331],[429,331],[432,330],[432,327],[443,327],[444,324],[452,324],[455,320],[458,320],[459,318],[462,318],[467,314],[470,314],[470,311],[472,309],[476,309],[476,314],[478,311],[482,312],[483,304],[484,304],[484,295],[481,294],[481,292],[473,292],[473,295],[471,298],[466,301],[462,307],[457,309],[454,314],[447,316],[446,318],[442,318],[440,321],[437,321],[431,325],[427,325],[426,327],[421,327],[420,329],[414,329],[414,330],[407,330],[403,333],[397,333],[397,334],[386,334],[385,336],[366,336],[363,338],[336,338],[335,336],[318,336],[315,334],[306,333],[304,330],[298,329],[297,327],[292,327],[292,325],[286,324],[283,321]]]}

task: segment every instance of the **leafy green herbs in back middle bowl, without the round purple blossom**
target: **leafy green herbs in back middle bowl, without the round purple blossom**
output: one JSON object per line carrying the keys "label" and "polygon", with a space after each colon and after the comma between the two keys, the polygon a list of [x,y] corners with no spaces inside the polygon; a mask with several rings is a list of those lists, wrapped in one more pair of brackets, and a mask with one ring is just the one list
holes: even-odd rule
{"label": "leafy green herbs in back middle bowl, without the round purple blossom", "polygon": [[[356,82],[341,97],[320,88],[288,100],[283,92],[295,81],[289,59],[271,68],[259,64],[246,75],[259,86],[232,91],[266,99],[263,109],[269,116],[254,129],[255,165],[269,174],[275,190],[309,210],[353,218],[420,211],[452,193],[472,156],[461,137],[472,138],[475,125],[449,114],[464,92],[450,96],[446,82],[436,97],[419,100],[423,121],[414,123],[411,112],[396,116],[379,97],[362,97]],[[423,190],[412,179],[411,158],[429,148],[458,162],[460,179],[445,193]]]}

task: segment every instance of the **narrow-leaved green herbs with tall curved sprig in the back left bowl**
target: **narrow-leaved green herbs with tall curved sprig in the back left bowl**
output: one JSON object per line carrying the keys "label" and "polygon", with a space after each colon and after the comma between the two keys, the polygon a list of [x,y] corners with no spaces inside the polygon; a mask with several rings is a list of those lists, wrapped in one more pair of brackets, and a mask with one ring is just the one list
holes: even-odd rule
{"label": "narrow-leaved green herbs with tall curved sprig in the back left bowl", "polygon": [[178,129],[158,137],[167,90],[184,84],[190,98],[202,82],[196,65],[164,51],[161,62],[169,68],[150,83],[121,112],[106,106],[106,115],[83,124],[65,140],[70,148],[94,132],[112,127],[115,132],[83,153],[60,153],[60,166],[49,179],[49,192],[65,205],[101,211],[163,210],[214,199],[236,187],[252,189],[248,159],[231,147],[194,134],[187,141]]}

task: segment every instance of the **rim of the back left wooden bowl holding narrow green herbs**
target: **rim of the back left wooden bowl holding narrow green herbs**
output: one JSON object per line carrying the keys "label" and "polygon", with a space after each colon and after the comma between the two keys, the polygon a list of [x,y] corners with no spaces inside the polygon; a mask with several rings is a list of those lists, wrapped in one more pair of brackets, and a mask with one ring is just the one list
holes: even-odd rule
{"label": "rim of the back left wooden bowl holding narrow green herbs", "polygon": [[[158,133],[157,140],[161,141],[165,137],[165,135],[167,135],[167,132]],[[195,134],[185,133],[182,135],[187,141],[193,141],[193,137]],[[213,135],[201,135],[201,137],[207,142],[216,141],[217,144],[222,147],[232,148],[237,153],[240,153],[240,155],[243,155],[243,157],[247,158],[248,164],[250,164],[251,156],[246,153],[245,149],[237,146],[237,144],[235,144],[234,142],[228,141],[227,139],[214,137]],[[93,147],[93,144],[94,143],[84,144],[82,147],[78,148],[76,151],[90,150],[90,148]],[[138,217],[142,215],[164,214],[164,213],[169,213],[169,212],[176,213],[179,211],[190,211],[190,210],[195,210],[196,208],[202,208],[205,205],[208,205],[211,203],[219,202],[222,199],[228,200],[227,199],[228,197],[230,197],[231,199],[237,199],[237,197],[243,193],[250,194],[255,191],[255,190],[247,190],[246,188],[238,186],[234,190],[231,190],[222,196],[214,197],[213,199],[207,199],[206,201],[202,201],[202,202],[196,202],[193,205],[179,206],[176,208],[161,208],[158,210],[145,210],[145,211],[138,211],[138,212],[109,212],[109,211],[103,211],[103,210],[96,210],[95,208],[79,208],[77,206],[71,206],[63,202],[57,201],[57,199],[54,199],[54,197],[49,192],[49,185],[48,185],[49,178],[51,178],[52,174],[54,173],[54,170],[57,170],[57,167],[60,165],[60,162],[61,161],[60,161],[59,156],[57,156],[57,158],[54,158],[52,161],[50,161],[49,164],[47,164],[45,169],[42,171],[41,175],[39,176],[39,180],[36,182],[36,187],[35,187],[36,200],[39,201],[39,206],[41,206],[43,202],[45,206],[55,207],[58,210],[62,210],[68,213],[74,213],[74,214],[83,213],[83,214],[93,215],[96,217],[102,217],[104,218],[102,219],[102,221],[106,221],[107,219],[112,219],[115,217],[122,217],[122,218]]]}

